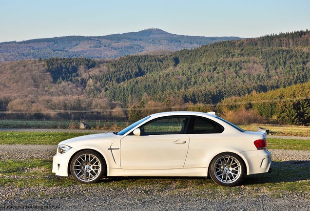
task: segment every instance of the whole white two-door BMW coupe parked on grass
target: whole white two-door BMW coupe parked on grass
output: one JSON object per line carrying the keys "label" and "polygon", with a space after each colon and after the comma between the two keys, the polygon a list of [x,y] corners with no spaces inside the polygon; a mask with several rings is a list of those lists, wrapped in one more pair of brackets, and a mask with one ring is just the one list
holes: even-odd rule
{"label": "whole white two-door BMW coupe parked on grass", "polygon": [[62,141],[53,172],[81,183],[103,176],[210,177],[234,186],[245,174],[268,172],[266,133],[244,131],[214,112],[164,112],[114,133]]}

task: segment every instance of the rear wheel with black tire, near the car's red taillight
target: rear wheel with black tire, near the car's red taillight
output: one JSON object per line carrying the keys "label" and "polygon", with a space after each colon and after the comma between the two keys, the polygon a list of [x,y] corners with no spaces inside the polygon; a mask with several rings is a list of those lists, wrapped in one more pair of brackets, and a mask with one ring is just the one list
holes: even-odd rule
{"label": "rear wheel with black tire, near the car's red taillight", "polygon": [[221,186],[235,186],[241,182],[244,172],[243,160],[230,152],[216,155],[209,168],[211,179]]}

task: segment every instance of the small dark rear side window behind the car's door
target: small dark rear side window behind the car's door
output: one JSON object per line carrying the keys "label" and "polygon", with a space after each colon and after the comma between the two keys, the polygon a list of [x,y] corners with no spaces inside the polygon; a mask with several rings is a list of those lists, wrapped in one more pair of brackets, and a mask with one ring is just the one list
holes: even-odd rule
{"label": "small dark rear side window behind the car's door", "polygon": [[221,133],[224,128],[219,124],[203,117],[192,117],[188,133],[202,134],[202,133]]}

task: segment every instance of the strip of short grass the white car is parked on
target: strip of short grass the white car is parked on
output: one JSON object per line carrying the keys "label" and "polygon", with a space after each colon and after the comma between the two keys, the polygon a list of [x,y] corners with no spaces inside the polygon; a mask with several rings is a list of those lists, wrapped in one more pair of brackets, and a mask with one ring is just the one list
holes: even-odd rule
{"label": "strip of short grass the white car is parked on", "polygon": [[[96,184],[78,184],[72,177],[58,177],[51,172],[50,160],[29,159],[24,161],[0,161],[0,186],[2,187],[75,187],[91,193],[94,190],[143,190],[143,194],[165,192],[165,194],[191,194],[195,196],[214,197],[214,199],[259,195],[282,197],[284,195],[302,195],[310,198],[309,162],[273,162],[270,174],[246,176],[236,187],[222,187],[212,180],[202,177],[116,177],[102,179]],[[72,194],[59,192],[61,196]],[[71,192],[71,193],[70,193]],[[36,193],[38,194],[38,193]],[[55,193],[56,195],[58,193]],[[30,193],[31,195],[31,193]],[[43,193],[44,195],[44,193]]]}

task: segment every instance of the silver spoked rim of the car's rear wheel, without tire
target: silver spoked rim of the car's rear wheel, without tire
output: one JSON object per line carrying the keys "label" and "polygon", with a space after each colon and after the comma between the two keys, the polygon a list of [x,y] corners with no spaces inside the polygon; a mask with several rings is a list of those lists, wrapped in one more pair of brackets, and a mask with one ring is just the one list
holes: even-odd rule
{"label": "silver spoked rim of the car's rear wheel, without tire", "polygon": [[238,159],[231,155],[219,157],[213,166],[215,178],[224,184],[232,184],[242,175],[242,167]]}

